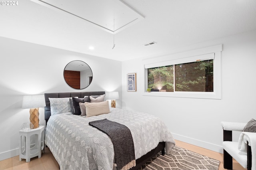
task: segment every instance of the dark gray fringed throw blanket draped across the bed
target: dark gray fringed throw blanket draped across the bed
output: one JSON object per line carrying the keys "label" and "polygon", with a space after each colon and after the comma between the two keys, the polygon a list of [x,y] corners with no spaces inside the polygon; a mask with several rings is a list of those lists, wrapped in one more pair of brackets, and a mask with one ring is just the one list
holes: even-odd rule
{"label": "dark gray fringed throw blanket draped across the bed", "polygon": [[118,170],[128,170],[136,166],[134,143],[128,127],[108,119],[92,121],[89,125],[105,132],[112,140]]}

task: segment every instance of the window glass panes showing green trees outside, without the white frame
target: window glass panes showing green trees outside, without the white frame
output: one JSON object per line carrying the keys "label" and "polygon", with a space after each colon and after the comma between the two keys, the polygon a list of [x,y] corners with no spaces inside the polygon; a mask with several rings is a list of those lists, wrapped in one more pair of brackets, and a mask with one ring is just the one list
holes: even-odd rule
{"label": "window glass panes showing green trees outside, without the white frame", "polygon": [[213,59],[148,68],[152,91],[213,92]]}

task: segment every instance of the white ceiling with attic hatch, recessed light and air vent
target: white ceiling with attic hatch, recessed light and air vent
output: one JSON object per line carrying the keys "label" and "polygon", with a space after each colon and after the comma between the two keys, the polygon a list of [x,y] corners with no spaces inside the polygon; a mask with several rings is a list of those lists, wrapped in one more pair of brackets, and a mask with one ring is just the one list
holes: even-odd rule
{"label": "white ceiling with attic hatch, recessed light and air vent", "polygon": [[[256,29],[255,0],[44,2],[48,4],[22,0],[16,6],[1,5],[0,36],[125,61]],[[144,46],[152,41],[156,43]]]}

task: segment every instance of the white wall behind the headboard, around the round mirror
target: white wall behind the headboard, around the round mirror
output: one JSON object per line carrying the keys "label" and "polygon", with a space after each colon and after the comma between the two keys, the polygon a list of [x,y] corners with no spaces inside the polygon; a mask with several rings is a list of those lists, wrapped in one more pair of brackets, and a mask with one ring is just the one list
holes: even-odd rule
{"label": "white wall behind the headboard, around the round mirror", "polygon": [[[19,154],[19,130],[29,121],[29,109],[21,108],[23,95],[119,91],[116,107],[122,107],[120,61],[3,37],[0,58],[0,160]],[[72,89],[64,80],[64,67],[73,60],[84,61],[92,69],[92,83],[86,89]],[[45,125],[44,108],[39,113],[40,125]]]}

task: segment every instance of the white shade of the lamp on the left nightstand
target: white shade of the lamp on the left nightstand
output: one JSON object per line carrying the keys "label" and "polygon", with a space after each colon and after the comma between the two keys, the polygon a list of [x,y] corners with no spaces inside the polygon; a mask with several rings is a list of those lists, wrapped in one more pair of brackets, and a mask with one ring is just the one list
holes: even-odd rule
{"label": "white shade of the lamp on the left nightstand", "polygon": [[45,107],[45,106],[46,105],[45,105],[44,95],[23,96],[23,100],[22,100],[23,109],[39,108],[39,107]]}

